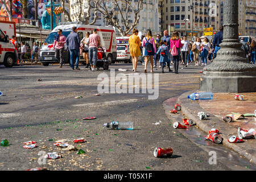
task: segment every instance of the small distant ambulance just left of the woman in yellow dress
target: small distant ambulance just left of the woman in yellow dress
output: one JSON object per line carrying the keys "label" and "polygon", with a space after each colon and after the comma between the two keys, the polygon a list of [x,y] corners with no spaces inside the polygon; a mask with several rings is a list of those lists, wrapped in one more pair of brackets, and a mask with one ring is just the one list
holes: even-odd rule
{"label": "small distant ambulance just left of the woman in yellow dress", "polygon": [[133,61],[129,50],[129,36],[117,37],[117,61],[125,63]]}

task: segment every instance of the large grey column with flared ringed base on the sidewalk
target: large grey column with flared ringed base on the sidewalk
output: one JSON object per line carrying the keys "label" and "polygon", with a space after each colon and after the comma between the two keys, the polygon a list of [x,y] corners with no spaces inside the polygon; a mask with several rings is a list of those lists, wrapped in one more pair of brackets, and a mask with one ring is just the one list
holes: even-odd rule
{"label": "large grey column with flared ringed base on the sidewalk", "polygon": [[238,39],[238,0],[224,1],[224,34],[216,59],[204,68],[200,91],[256,92],[256,66],[246,59]]}

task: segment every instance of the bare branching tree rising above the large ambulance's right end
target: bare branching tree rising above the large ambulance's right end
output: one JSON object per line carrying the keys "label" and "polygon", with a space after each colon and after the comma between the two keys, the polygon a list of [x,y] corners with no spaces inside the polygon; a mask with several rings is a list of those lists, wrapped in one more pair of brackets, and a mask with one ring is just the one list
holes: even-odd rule
{"label": "bare branching tree rising above the large ambulance's right end", "polygon": [[[137,26],[140,11],[142,10],[143,0],[132,4],[129,0],[90,0],[93,1],[94,9],[100,11],[108,24],[117,27],[122,36],[129,34],[135,26]],[[108,6],[108,7],[107,7]],[[129,19],[129,12],[134,14],[134,20]],[[121,15],[121,22],[118,21],[118,14]],[[123,30],[122,26],[125,30]]]}

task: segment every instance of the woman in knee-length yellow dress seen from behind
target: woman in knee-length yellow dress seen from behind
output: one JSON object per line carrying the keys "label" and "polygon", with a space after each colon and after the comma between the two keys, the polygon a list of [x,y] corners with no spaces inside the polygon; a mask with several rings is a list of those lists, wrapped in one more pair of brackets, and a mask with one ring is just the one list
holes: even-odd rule
{"label": "woman in knee-length yellow dress seen from behind", "polygon": [[130,55],[133,58],[133,71],[137,72],[138,57],[141,56],[141,40],[139,39],[139,31],[134,28],[133,35],[129,38]]}

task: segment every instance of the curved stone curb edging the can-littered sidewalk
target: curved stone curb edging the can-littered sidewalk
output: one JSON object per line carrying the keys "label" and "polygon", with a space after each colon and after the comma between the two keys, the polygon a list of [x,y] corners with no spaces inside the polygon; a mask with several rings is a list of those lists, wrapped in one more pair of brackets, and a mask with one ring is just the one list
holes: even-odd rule
{"label": "curved stone curb edging the can-littered sidewalk", "polygon": [[[246,159],[250,160],[251,163],[256,164],[256,155],[254,152],[248,152],[247,150],[250,149],[250,143],[229,143],[228,138],[232,135],[237,136],[237,129],[233,126],[230,126],[228,123],[220,121],[219,118],[215,117],[214,115],[210,114],[208,120],[200,120],[197,116],[197,113],[200,111],[205,112],[208,114],[207,110],[204,110],[197,101],[192,101],[188,99],[189,94],[193,92],[186,92],[181,94],[181,96],[177,99],[177,103],[181,106],[181,110],[183,113],[189,118],[193,119],[196,122],[196,125],[203,130],[205,133],[212,128],[220,130],[220,135],[223,138],[222,144],[232,150],[238,152],[238,154],[244,156]],[[245,146],[245,147],[241,147]],[[247,149],[247,150],[246,150]],[[254,151],[254,150],[252,150]]]}

